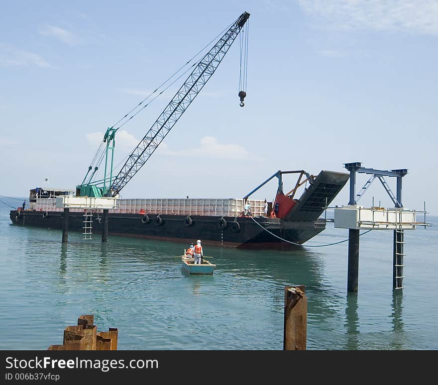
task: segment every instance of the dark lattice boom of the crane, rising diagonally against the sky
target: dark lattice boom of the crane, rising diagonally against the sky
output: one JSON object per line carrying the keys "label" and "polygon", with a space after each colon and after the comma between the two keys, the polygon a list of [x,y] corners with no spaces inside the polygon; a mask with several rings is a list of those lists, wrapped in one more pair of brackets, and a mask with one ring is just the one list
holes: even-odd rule
{"label": "dark lattice boom of the crane, rising diagonally against the sky", "polygon": [[144,166],[187,107],[212,77],[248,18],[249,13],[243,12],[214,47],[200,60],[138,146],[129,155],[126,163],[109,187],[107,196],[115,196],[120,193],[121,189]]}

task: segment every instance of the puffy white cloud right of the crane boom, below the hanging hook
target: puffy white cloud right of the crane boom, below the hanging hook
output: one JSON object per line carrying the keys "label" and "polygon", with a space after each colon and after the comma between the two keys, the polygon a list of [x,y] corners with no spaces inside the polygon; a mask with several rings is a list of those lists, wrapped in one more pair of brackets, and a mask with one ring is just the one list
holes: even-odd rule
{"label": "puffy white cloud right of the crane boom, below the hanging hook", "polygon": [[159,151],[163,155],[184,157],[208,157],[232,160],[254,160],[256,157],[240,144],[221,144],[213,136],[204,136],[199,142],[196,151],[171,151],[167,144],[161,143]]}

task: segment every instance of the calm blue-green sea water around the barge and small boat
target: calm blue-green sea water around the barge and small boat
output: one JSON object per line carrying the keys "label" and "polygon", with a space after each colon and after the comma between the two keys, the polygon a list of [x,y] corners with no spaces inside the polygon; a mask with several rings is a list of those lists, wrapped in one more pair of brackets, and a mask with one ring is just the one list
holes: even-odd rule
{"label": "calm blue-green sea water around the barge and small boat", "polygon": [[[19,201],[1,198],[17,206]],[[402,291],[392,289],[392,231],[360,238],[359,290],[347,294],[347,246],[248,251],[204,246],[213,276],[190,276],[188,245],[12,225],[0,203],[0,349],[45,350],[94,314],[119,350],[282,350],[284,287],[305,285],[308,350],[436,350],[438,217],[405,232]],[[346,239],[332,223],[308,245]]]}

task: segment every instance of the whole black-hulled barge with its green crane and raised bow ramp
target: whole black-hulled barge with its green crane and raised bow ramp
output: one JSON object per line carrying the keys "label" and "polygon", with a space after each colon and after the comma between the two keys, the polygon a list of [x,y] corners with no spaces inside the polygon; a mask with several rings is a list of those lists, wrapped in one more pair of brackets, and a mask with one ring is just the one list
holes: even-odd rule
{"label": "whole black-hulled barge with its green crane and raised bow ramp", "polygon": [[[12,223],[46,228],[62,228],[62,202],[74,199],[108,198],[115,202],[111,209],[102,210],[98,204],[89,208],[78,204],[70,209],[69,226],[72,230],[85,228],[85,236],[91,238],[92,231],[108,226],[109,234],[130,235],[143,238],[193,242],[201,238],[204,244],[218,244],[232,247],[258,248],[288,243],[303,244],[325,229],[326,222],[319,216],[348,180],[348,174],[321,171],[310,175],[304,170],[278,171],[263,184],[246,194],[243,198],[218,199],[121,199],[120,191],[145,165],[159,144],[169,134],[188,106],[201,92],[207,81],[213,76],[233,41],[243,31],[249,13],[243,12],[220,36],[215,45],[204,57],[193,64],[193,71],[184,84],[170,100],[163,112],[146,132],[140,143],[127,157],[126,162],[113,177],[113,153],[117,130],[138,113],[135,108],[109,127],[104,135],[101,147],[96,153],[82,183],[75,191],[62,189],[36,188],[29,193],[29,209],[11,210]],[[246,33],[248,29],[246,28]],[[242,39],[247,44],[248,39]],[[246,78],[247,49],[244,53],[244,77]],[[242,54],[242,44],[241,44]],[[242,70],[241,70],[242,73]],[[246,97],[246,79],[239,84],[240,106],[244,106]],[[158,90],[158,89],[157,89]],[[155,90],[155,91],[157,91]],[[154,91],[154,92],[155,92]],[[144,101],[144,100],[143,100]],[[141,110],[147,104],[140,102]],[[136,108],[137,108],[136,107]],[[124,119],[124,122],[123,122]],[[123,122],[119,127],[116,125]],[[94,180],[100,163],[105,158],[104,177]],[[91,173],[91,175],[90,175]],[[284,174],[297,174],[295,187],[288,193],[283,191]],[[272,180],[278,179],[275,199],[270,202],[251,199],[250,195]],[[303,177],[305,177],[303,179]],[[309,188],[295,198],[298,189],[309,183]],[[265,205],[266,203],[266,205]],[[64,204],[64,203],[63,203]],[[250,209],[244,207],[249,205]],[[268,212],[272,214],[267,214]],[[103,220],[102,211],[107,211]],[[85,218],[85,220],[84,220]],[[108,220],[107,220],[108,219]],[[85,223],[85,227],[84,227]],[[88,230],[87,230],[88,229]]]}

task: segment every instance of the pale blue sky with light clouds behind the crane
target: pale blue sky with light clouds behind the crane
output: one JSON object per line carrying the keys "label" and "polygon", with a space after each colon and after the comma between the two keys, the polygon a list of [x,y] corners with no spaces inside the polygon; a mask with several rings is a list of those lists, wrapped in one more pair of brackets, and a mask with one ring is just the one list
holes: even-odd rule
{"label": "pale blue sky with light clouds behind the crane", "polygon": [[[404,206],[426,202],[437,215],[437,0],[4,2],[0,194],[74,190],[107,127],[243,11],[245,106],[237,38],[121,197],[239,198],[278,170],[317,175],[361,162],[408,169]],[[117,131],[115,165],[187,76]],[[356,189],[367,179],[359,174]],[[395,178],[387,182],[395,192]],[[287,192],[295,177],[283,183]],[[276,190],[274,179],[251,197]],[[393,206],[378,181],[360,204],[372,199]],[[332,205],[347,203],[348,184]]]}

